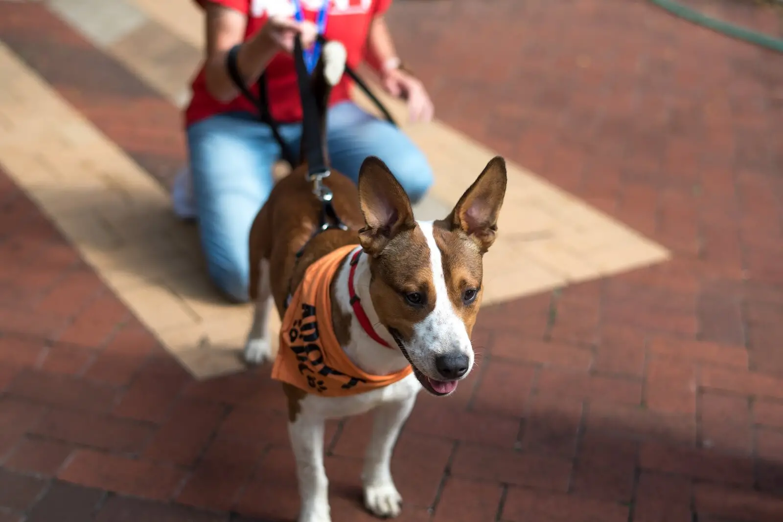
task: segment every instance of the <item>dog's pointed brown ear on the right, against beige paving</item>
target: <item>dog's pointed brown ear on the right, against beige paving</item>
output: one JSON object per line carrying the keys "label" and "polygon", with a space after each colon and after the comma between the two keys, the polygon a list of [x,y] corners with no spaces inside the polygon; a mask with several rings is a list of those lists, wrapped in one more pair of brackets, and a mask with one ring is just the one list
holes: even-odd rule
{"label": "dog's pointed brown ear on the right, against beige paving", "polygon": [[482,254],[495,242],[506,182],[506,161],[495,156],[446,217],[452,230],[461,230],[474,238]]}

